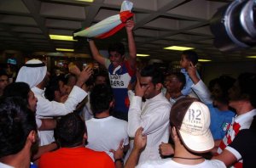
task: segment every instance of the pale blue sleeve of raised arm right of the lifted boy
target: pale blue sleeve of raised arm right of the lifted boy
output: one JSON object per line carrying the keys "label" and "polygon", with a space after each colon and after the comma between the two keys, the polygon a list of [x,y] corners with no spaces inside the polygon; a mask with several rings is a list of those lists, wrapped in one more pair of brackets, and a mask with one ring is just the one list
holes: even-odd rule
{"label": "pale blue sleeve of raised arm right of the lifted boy", "polygon": [[198,81],[196,84],[193,84],[191,88],[201,99],[202,103],[212,104],[211,93],[203,81]]}

